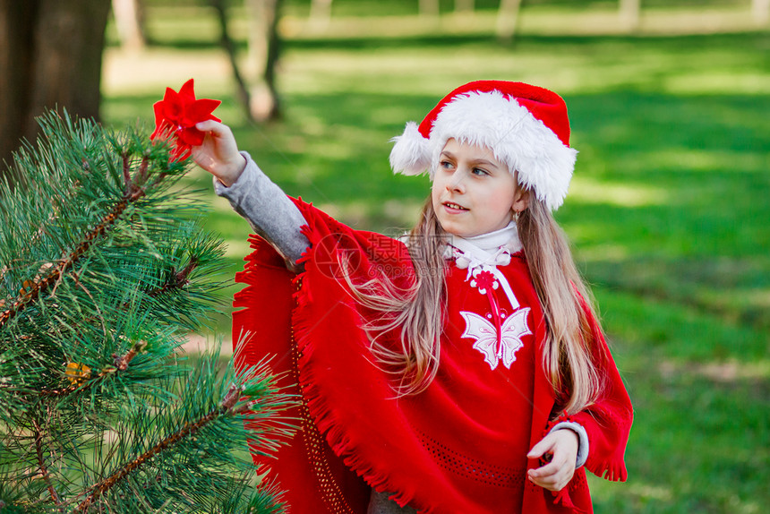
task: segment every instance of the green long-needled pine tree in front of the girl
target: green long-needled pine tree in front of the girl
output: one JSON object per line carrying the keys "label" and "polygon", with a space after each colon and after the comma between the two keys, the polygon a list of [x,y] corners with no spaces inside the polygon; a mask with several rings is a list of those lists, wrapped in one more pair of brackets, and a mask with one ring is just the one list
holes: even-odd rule
{"label": "green long-needled pine tree in front of the girl", "polygon": [[223,248],[140,129],[65,113],[0,184],[0,513],[278,512],[252,451],[291,427],[267,366],[179,347],[222,286]]}

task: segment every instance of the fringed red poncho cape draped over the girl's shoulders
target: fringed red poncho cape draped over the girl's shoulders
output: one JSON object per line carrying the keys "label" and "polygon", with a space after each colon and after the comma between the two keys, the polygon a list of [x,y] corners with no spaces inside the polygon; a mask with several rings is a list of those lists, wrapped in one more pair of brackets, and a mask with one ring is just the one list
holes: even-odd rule
{"label": "fringed red poncho cape draped over the girl's shoulders", "polygon": [[[457,344],[455,330],[455,338],[442,341],[440,375],[431,387],[396,399],[391,377],[372,364],[369,340],[359,328],[365,313],[338,281],[338,256],[350,260],[355,279],[385,273],[406,286],[414,278],[406,247],[355,231],[302,201],[297,207],[307,220],[305,235],[311,243],[304,272],[292,274],[270,244],[252,238],[254,252],[236,276],[247,285],[235,296],[235,307],[242,309],[233,315],[237,364],[273,356],[274,371],[285,373],[283,385],[300,398],[300,405],[287,413],[300,420],[295,438],[275,459],[255,456],[287,490],[290,511],[364,514],[371,487],[419,512],[570,512],[573,506],[592,511],[583,468],[560,494],[526,480],[526,468],[540,463],[527,461],[522,452],[564,418],[552,419],[555,396],[539,365],[543,314],[523,256],[505,268],[518,301],[531,308],[533,333],[522,339],[529,353],[521,351],[515,363],[530,371],[489,373],[488,364],[467,349],[470,345]],[[452,279],[458,280],[448,277],[448,283]],[[471,296],[461,300],[477,301]],[[447,332],[453,324],[450,315]],[[608,379],[605,395],[570,419],[588,433],[586,467],[625,480],[631,405],[612,356],[599,340],[597,355]],[[483,372],[485,378],[478,379]],[[521,407],[501,410],[519,405],[515,397],[522,390],[528,408],[522,409],[526,406],[519,400]],[[523,424],[515,423],[517,409],[528,410]],[[518,431],[524,441],[508,444],[503,430]]]}

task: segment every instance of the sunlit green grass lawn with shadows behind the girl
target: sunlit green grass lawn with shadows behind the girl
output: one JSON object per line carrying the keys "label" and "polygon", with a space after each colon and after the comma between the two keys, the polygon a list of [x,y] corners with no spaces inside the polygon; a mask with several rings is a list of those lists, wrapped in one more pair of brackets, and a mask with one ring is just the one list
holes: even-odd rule
{"label": "sunlit green grass lawn with shadows behind the girl", "polygon": [[[339,4],[346,15],[359,14],[352,3]],[[293,5],[302,15],[304,4]],[[558,5],[549,8],[558,14]],[[477,78],[531,81],[560,92],[580,154],[558,219],[594,284],[636,408],[629,483],[592,480],[595,510],[766,510],[766,31],[666,37],[524,31],[512,47],[479,32],[297,36],[287,40],[278,77],[285,117],[255,127],[235,105],[227,67],[206,39],[211,33],[201,42],[174,20],[155,23],[165,30],[157,38],[162,45],[133,62],[114,51],[108,58],[124,72],[105,84],[109,123],[137,116],[150,123],[151,103],[163,87],[194,76],[200,96],[224,99],[218,116],[287,193],[355,227],[389,233],[412,223],[429,188],[424,178],[389,172],[389,138],[407,120],[420,120],[447,91]],[[249,228],[210,193],[209,177],[193,172],[190,181],[210,196],[206,222],[227,239],[235,273],[248,251]],[[221,326],[227,330],[226,317]]]}

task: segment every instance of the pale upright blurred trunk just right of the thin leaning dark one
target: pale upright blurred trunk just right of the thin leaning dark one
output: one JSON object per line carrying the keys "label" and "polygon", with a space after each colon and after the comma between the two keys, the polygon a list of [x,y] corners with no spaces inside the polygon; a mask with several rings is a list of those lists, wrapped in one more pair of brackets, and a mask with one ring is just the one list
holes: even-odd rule
{"label": "pale upright blurred trunk just right of the thin leaning dark one", "polygon": [[249,10],[249,58],[257,81],[251,93],[251,112],[256,120],[280,116],[276,89],[276,65],[280,49],[278,12],[281,0],[246,0]]}

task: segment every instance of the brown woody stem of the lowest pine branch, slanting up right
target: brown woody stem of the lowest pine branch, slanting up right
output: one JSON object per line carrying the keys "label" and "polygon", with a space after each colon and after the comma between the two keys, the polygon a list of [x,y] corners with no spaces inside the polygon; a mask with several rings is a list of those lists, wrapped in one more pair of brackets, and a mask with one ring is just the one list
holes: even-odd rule
{"label": "brown woody stem of the lowest pine branch, slanting up right", "polygon": [[174,446],[177,442],[192,437],[195,433],[200,432],[204,426],[211,424],[213,421],[225,415],[243,414],[249,408],[248,403],[234,409],[238,399],[241,398],[241,391],[242,388],[235,384],[230,386],[230,390],[228,390],[225,398],[219,402],[218,407],[212,409],[209,414],[202,416],[199,420],[193,423],[184,424],[182,429],[172,433],[162,441],[159,441],[158,444],[150,448],[150,450],[145,451],[141,456],[135,458],[133,461],[108,476],[105,480],[93,486],[90,489],[91,493],[88,498],[81,501],[80,505],[78,505],[73,512],[83,512],[87,510],[94,501],[97,501],[99,497],[104,493],[107,493],[107,491],[116,486],[121,480],[124,480],[126,476],[130,475],[138,467],[141,467],[142,464],[150,461],[151,458],[157,456],[160,452]]}

